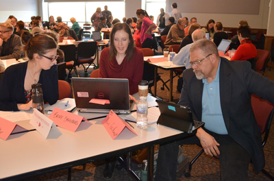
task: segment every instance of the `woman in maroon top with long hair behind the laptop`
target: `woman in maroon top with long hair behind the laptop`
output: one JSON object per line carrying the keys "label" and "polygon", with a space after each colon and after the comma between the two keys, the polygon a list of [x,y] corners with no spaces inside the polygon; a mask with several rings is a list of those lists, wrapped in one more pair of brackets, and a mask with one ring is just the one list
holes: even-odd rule
{"label": "woman in maroon top with long hair behind the laptop", "polygon": [[[138,93],[138,82],[142,80],[144,57],[134,47],[132,32],[127,23],[116,23],[110,33],[110,47],[103,49],[100,56],[99,77],[124,78],[129,80],[129,94]],[[129,96],[132,98],[132,96]],[[104,178],[112,178],[116,158],[105,160]]]}

